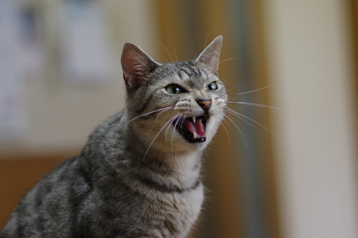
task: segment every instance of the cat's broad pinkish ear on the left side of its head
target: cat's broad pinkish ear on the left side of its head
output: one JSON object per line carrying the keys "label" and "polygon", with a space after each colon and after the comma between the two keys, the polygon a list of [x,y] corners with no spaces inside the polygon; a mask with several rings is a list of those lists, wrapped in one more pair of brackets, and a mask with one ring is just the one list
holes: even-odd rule
{"label": "cat's broad pinkish ear on the left side of its head", "polygon": [[146,83],[146,75],[160,63],[155,62],[136,44],[126,43],[121,58],[123,78],[129,88],[137,88]]}

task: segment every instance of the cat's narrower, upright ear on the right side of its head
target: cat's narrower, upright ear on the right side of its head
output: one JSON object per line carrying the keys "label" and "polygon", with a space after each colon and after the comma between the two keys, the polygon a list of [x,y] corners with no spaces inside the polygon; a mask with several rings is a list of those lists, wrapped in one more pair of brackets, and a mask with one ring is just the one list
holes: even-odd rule
{"label": "cat's narrower, upright ear on the right side of its head", "polygon": [[219,35],[195,59],[197,62],[203,63],[214,74],[218,74],[219,56],[222,42],[223,37],[222,35]]}

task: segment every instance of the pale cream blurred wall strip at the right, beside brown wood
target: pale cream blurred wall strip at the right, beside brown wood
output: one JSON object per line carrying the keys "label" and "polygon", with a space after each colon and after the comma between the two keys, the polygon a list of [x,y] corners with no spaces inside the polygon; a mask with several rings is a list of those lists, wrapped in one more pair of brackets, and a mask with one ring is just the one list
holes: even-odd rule
{"label": "pale cream blurred wall strip at the right, beside brown wood", "polygon": [[356,238],[357,138],[345,1],[266,0],[282,237]]}

